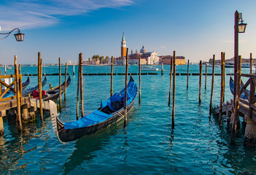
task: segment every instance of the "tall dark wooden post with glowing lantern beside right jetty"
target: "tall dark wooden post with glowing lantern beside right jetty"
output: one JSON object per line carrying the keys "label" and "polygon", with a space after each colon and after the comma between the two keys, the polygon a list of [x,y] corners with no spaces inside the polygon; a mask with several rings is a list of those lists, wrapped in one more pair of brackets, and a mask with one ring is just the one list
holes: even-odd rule
{"label": "tall dark wooden post with glowing lantern beside right jetty", "polygon": [[[239,23],[241,21],[241,23]],[[238,33],[244,33],[245,28],[247,27],[247,23],[243,23],[242,19],[242,14],[238,13],[238,11],[235,12],[235,26],[234,26],[234,45],[235,45],[235,52],[234,52],[234,62],[235,62],[235,67],[234,67],[234,96],[233,96],[233,106],[235,107],[234,109],[234,118],[233,118],[233,125],[232,129],[233,131],[236,132],[236,123],[237,123],[237,115],[238,115],[238,104],[236,104],[236,98],[239,98],[238,93],[240,91],[240,75],[237,74],[238,72]],[[239,24],[238,24],[239,23]],[[240,63],[239,63],[240,64]],[[238,96],[238,97],[236,97]],[[238,100],[238,99],[237,99]],[[238,102],[239,103],[239,102]]]}

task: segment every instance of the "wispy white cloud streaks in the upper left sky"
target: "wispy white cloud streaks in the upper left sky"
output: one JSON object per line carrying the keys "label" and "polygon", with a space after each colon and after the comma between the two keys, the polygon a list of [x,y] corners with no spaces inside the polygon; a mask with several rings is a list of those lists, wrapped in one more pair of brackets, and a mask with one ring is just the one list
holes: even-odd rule
{"label": "wispy white cloud streaks in the upper left sky", "polygon": [[10,0],[0,5],[0,26],[3,31],[17,27],[42,28],[59,23],[63,16],[131,4],[132,0]]}

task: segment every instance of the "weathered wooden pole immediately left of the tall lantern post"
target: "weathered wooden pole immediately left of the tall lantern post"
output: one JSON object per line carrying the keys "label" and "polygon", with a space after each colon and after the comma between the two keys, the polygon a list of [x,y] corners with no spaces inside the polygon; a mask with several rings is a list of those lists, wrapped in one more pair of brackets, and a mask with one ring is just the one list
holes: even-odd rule
{"label": "weathered wooden pole immediately left of the tall lantern post", "polygon": [[225,53],[221,52],[221,85],[220,85],[220,113],[219,113],[219,123],[222,123],[222,106],[224,100],[225,91]]}

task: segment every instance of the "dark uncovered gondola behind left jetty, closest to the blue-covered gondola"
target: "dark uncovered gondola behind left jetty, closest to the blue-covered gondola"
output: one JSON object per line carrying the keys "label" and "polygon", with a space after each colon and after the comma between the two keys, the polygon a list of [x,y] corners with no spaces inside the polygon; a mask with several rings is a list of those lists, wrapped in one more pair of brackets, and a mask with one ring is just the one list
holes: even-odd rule
{"label": "dark uncovered gondola behind left jetty, closest to the blue-covered gondola", "polygon": [[[69,74],[69,78],[66,80],[66,88],[68,88],[70,84],[71,84],[71,77]],[[64,90],[65,90],[65,82],[63,82],[61,85],[61,94],[63,93]],[[46,90],[46,95],[42,96],[42,99],[44,101],[48,101],[48,100],[56,101],[58,100],[58,98],[60,98],[60,86],[58,86],[57,88]]]}

